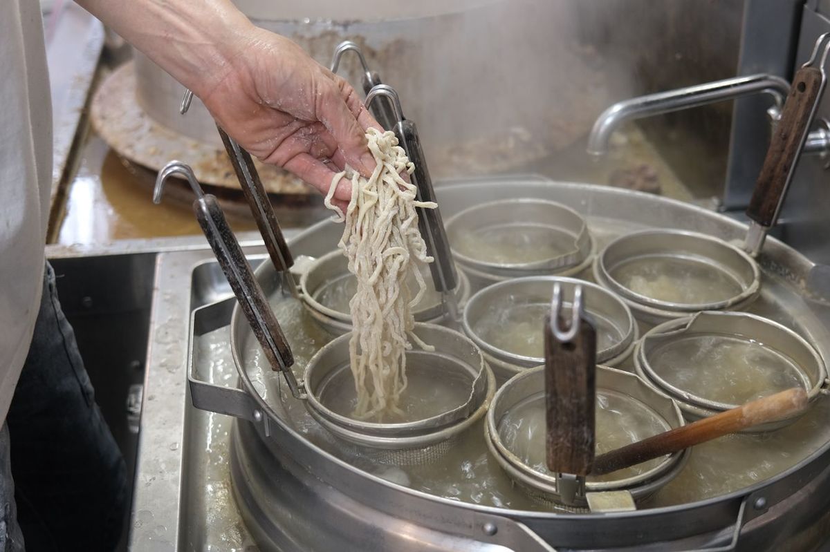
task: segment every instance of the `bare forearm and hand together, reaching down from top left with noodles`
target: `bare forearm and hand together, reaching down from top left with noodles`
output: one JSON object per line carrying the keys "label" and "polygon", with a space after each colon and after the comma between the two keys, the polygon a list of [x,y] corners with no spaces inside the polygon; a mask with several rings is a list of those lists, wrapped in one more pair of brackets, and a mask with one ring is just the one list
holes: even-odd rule
{"label": "bare forearm and hand together, reaching down from top left with noodles", "polygon": [[[325,194],[346,163],[369,177],[365,132],[380,128],[352,87],[230,0],[76,0],[202,99],[261,161]],[[335,201],[348,202],[341,179]]]}

